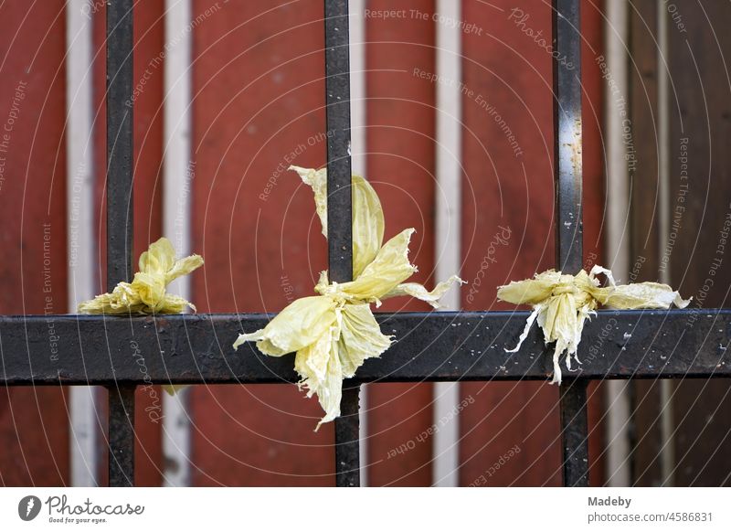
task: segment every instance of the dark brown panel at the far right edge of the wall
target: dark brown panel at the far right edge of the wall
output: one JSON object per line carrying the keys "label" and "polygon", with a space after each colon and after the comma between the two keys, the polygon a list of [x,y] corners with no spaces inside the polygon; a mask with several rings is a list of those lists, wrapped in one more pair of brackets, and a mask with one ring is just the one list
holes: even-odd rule
{"label": "dark brown panel at the far right edge of the wall", "polygon": [[[671,227],[661,235],[661,268],[667,260],[673,285],[694,296],[692,306],[724,307],[731,286],[731,5],[704,1],[678,5],[674,13],[668,5],[665,16]],[[674,391],[675,484],[731,485],[728,381],[682,381]]]}

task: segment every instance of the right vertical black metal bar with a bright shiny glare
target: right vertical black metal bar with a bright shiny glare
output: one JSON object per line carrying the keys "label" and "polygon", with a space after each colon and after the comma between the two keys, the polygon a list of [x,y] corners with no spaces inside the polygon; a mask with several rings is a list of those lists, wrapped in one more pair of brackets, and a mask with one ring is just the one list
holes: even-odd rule
{"label": "right vertical black metal bar with a bright shiny glare", "polygon": [[[553,0],[556,262],[577,273],[582,253],[581,35],[579,0]],[[564,485],[588,485],[587,381],[560,388]]]}

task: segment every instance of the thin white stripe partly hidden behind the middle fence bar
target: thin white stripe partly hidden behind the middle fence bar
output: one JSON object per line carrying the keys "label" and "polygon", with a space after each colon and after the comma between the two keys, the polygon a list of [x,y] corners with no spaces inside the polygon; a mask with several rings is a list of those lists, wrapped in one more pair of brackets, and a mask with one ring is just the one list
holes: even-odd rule
{"label": "thin white stripe partly hidden behind the middle fence bar", "polygon": [[[353,172],[367,176],[365,168],[365,0],[351,0],[350,13],[350,142]],[[360,484],[368,485],[368,386],[360,388]]]}

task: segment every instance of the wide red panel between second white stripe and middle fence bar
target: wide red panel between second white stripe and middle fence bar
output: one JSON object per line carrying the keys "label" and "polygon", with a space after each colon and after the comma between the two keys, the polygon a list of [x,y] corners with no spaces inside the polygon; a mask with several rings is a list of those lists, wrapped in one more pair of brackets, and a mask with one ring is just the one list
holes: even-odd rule
{"label": "wide red panel between second white stripe and middle fence bar", "polygon": [[[277,312],[326,269],[312,192],[290,164],[325,163],[323,2],[196,0],[194,276],[203,312]],[[208,15],[206,15],[208,14]],[[261,356],[253,346],[225,356]],[[293,384],[197,387],[196,485],[332,485],[333,425]]]}

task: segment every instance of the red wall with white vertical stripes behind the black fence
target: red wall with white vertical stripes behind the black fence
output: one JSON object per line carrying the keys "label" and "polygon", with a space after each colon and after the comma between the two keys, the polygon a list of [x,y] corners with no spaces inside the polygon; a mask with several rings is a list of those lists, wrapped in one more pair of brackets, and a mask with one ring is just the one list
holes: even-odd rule
{"label": "red wall with white vertical stripes behind the black fence", "polygon": [[[85,208],[95,226],[93,240],[84,245],[93,251],[95,292],[104,288],[102,4],[76,4],[90,25],[92,52],[93,130],[84,142],[93,139],[94,193]],[[353,50],[354,64],[362,69],[354,78],[359,80],[354,95],[366,99],[355,113],[360,117],[354,122],[355,171],[366,173],[383,200],[387,237],[417,229],[411,259],[419,266],[419,282],[435,282],[435,271],[456,261],[470,284],[454,306],[506,308],[494,301],[496,285],[554,265],[551,58],[524,31],[549,35],[550,7],[541,0],[521,3],[528,17],[518,26],[511,15],[514,3],[464,0],[456,10],[451,4],[351,1],[363,14],[359,24],[367,43]],[[593,58],[602,46],[602,17],[593,2],[582,6],[585,252],[594,262],[602,249],[603,186],[601,87]],[[166,29],[165,11],[179,16],[181,9],[184,18],[186,9],[190,14],[187,26]],[[382,10],[402,10],[406,16],[373,15]],[[290,162],[324,163],[322,11],[322,0],[159,0],[136,6],[135,79],[144,81],[134,116],[136,252],[164,227],[178,227],[182,205],[189,231],[166,236],[179,237],[206,259],[190,285],[200,312],[276,312],[292,298],[312,293],[325,268],[325,242],[311,194],[296,176],[282,172]],[[66,195],[73,176],[64,136],[70,109],[64,60],[69,14],[60,0],[32,7],[5,3],[0,14],[6,28],[0,32],[0,120],[16,85],[26,82],[0,189],[0,235],[3,249],[11,250],[2,264],[0,313],[44,312],[48,231],[43,224],[48,223],[53,312],[61,314],[73,304],[67,295],[67,220],[74,207]],[[455,16],[465,24],[457,27]],[[437,50],[437,43],[451,43],[456,55]],[[174,57],[175,66],[168,64]],[[450,72],[461,72],[461,80],[450,78]],[[446,77],[428,79],[438,73]],[[189,89],[181,89],[181,82]],[[440,115],[437,103],[445,95],[459,96],[461,116]],[[189,135],[175,125],[186,110]],[[461,137],[456,144],[450,135],[455,130]],[[450,158],[445,146],[456,156]],[[170,173],[172,165],[178,176]],[[461,188],[456,194],[449,188],[454,180]],[[440,229],[449,216],[456,233]],[[426,309],[399,300],[384,310]],[[90,459],[96,450],[104,463],[101,431],[90,431],[86,451],[70,452],[79,438],[69,433],[69,395],[69,390],[0,390],[0,482],[83,483],[79,457]],[[96,399],[84,408],[90,419],[103,420],[101,391],[92,395]],[[592,455],[600,456],[599,390],[591,396],[597,427]],[[182,414],[177,419],[187,422],[180,430],[177,423],[164,425],[150,415],[164,400],[158,388],[141,390],[137,399],[139,484],[160,485],[165,479],[194,485],[334,484],[332,426],[313,432],[319,406],[294,386],[191,388],[175,399],[185,407],[176,410]],[[467,406],[449,426],[440,425],[437,437],[422,436],[460,400]],[[164,404],[170,410],[163,414],[175,415],[171,401]],[[557,390],[547,383],[470,383],[446,393],[435,393],[429,383],[370,385],[364,405],[368,484],[467,485],[513,448],[520,452],[491,484],[559,484],[556,405]],[[179,442],[189,446],[189,459]],[[404,444],[408,452],[394,452]],[[449,473],[444,464],[450,463],[461,463],[459,472],[434,473]],[[600,483],[601,461],[592,465],[592,482]],[[87,482],[105,482],[103,469],[88,467]]]}

